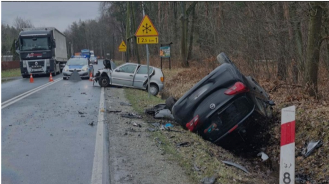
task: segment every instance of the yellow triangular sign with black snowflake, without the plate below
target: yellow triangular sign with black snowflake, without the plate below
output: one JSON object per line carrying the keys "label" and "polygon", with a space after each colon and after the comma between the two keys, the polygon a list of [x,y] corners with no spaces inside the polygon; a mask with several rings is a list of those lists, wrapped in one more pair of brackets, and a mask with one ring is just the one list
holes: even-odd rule
{"label": "yellow triangular sign with black snowflake, without the plate below", "polygon": [[135,36],[159,36],[157,29],[155,29],[150,17],[145,15],[140,22],[139,27],[135,33]]}

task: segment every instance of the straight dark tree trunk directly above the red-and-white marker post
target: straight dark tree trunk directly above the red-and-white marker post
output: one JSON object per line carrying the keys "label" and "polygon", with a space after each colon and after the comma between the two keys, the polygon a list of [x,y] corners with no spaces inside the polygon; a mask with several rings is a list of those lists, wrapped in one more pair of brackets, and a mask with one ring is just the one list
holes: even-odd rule
{"label": "straight dark tree trunk directly above the red-and-white marker post", "polygon": [[278,40],[279,40],[279,58],[278,58],[278,71],[277,76],[279,80],[286,80],[287,79],[287,64],[285,60],[285,54],[286,54],[286,31],[284,31],[283,28],[285,28],[284,24],[284,7],[283,2],[279,2],[279,24],[278,24]]}

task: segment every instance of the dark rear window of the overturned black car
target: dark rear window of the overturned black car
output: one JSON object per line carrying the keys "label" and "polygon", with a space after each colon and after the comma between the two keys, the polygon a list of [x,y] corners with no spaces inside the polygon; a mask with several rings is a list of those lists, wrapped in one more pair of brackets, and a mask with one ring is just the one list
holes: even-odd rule
{"label": "dark rear window of the overturned black car", "polygon": [[[251,110],[252,105],[248,102],[246,97],[242,96],[236,99],[224,111],[220,110],[215,113],[211,121],[205,124],[202,130],[206,134],[210,133],[209,137],[216,140],[238,124]],[[211,126],[213,128],[209,128]]]}

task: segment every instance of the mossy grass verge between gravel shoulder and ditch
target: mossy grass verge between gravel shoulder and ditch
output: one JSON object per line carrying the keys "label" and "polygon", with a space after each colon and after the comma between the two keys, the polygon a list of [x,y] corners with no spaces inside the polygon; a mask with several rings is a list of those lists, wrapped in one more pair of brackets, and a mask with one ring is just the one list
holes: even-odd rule
{"label": "mossy grass verge between gravel shoulder and ditch", "polygon": [[[167,123],[168,120],[156,120],[153,117],[144,114],[144,109],[152,107],[159,103],[164,103],[158,97],[151,96],[148,99],[148,94],[145,91],[136,89],[125,89],[125,95],[132,104],[134,110],[139,114],[143,114],[146,122],[162,122]],[[174,122],[171,122],[174,124]],[[151,126],[150,126],[151,127]],[[186,174],[195,183],[200,183],[204,177],[215,176],[215,183],[277,183],[277,179],[267,174],[269,166],[261,163],[260,160],[250,160],[240,158],[233,153],[216,146],[215,144],[202,139],[199,135],[184,130],[181,126],[175,124],[173,128],[179,132],[156,131],[151,133],[151,138],[159,138],[164,144],[158,144],[164,150],[164,154],[168,159],[173,160],[185,170]],[[154,140],[156,141],[156,140]],[[189,142],[188,146],[178,147],[177,144]],[[223,163],[223,160],[233,161],[247,168],[251,174],[246,174],[243,171],[229,167]]]}

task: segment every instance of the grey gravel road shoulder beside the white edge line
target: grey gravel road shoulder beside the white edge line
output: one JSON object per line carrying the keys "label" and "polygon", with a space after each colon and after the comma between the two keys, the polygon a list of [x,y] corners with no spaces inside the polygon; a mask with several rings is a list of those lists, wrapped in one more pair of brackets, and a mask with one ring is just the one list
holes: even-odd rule
{"label": "grey gravel road shoulder beside the white edge line", "polygon": [[[158,147],[158,142],[150,138],[145,122],[121,117],[121,113],[133,112],[131,106],[120,105],[128,103],[123,89],[106,88],[105,99],[111,184],[192,183],[183,169]],[[109,112],[116,110],[121,112]]]}

